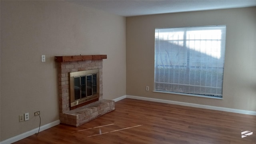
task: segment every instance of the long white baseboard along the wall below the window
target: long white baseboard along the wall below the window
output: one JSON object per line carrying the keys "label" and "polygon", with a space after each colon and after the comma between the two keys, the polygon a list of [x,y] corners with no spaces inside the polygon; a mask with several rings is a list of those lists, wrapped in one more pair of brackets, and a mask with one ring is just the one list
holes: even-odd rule
{"label": "long white baseboard along the wall below the window", "polygon": [[[124,96],[122,96],[122,97],[124,97]],[[172,100],[161,100],[161,99],[146,98],[146,97],[141,97],[141,96],[126,95],[125,97],[126,98],[137,99],[137,100],[147,100],[147,101],[151,101],[151,102],[162,102],[162,103],[166,103],[166,104],[176,104],[176,105],[180,105],[180,106],[191,106],[191,107],[195,107],[195,108],[205,108],[205,109],[210,109],[210,110],[220,110],[220,111],[224,111],[224,112],[234,112],[234,113],[238,113],[238,114],[248,114],[248,115],[256,116],[255,111],[249,111],[249,110],[239,110],[239,109],[234,109],[234,108],[223,108],[223,107],[218,107],[218,106],[207,106],[207,105],[202,105],[202,104],[192,104],[192,103],[177,102],[177,101],[172,101]]]}

